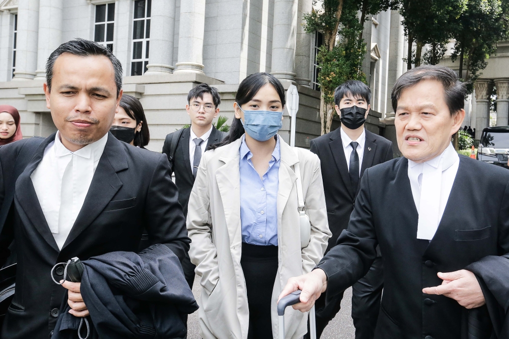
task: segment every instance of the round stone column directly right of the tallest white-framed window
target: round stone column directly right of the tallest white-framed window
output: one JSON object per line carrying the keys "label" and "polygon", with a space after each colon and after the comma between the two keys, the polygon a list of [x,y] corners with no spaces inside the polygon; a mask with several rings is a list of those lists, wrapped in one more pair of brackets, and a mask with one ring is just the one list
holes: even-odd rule
{"label": "round stone column directly right of the tallest white-framed window", "polygon": [[172,73],[175,36],[175,0],[153,0],[149,64],[145,75]]}

